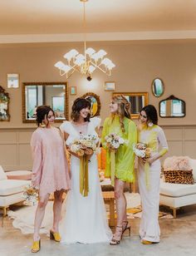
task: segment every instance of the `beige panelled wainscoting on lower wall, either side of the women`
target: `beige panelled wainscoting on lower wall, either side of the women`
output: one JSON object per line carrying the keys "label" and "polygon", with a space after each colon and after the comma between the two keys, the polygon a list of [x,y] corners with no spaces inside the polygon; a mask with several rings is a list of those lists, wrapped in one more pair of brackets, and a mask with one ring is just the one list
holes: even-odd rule
{"label": "beige panelled wainscoting on lower wall, either side of the women", "polygon": [[[189,155],[196,159],[196,126],[163,126],[169,155]],[[30,139],[33,128],[0,130],[0,165],[5,170],[32,170]],[[164,158],[162,160],[164,160]]]}

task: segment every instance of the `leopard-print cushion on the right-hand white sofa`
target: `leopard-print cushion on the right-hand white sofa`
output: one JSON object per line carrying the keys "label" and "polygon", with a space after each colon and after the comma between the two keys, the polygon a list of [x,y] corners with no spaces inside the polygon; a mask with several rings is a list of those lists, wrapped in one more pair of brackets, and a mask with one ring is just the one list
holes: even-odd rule
{"label": "leopard-print cushion on the right-hand white sofa", "polygon": [[164,180],[175,184],[194,184],[193,170],[164,170]]}

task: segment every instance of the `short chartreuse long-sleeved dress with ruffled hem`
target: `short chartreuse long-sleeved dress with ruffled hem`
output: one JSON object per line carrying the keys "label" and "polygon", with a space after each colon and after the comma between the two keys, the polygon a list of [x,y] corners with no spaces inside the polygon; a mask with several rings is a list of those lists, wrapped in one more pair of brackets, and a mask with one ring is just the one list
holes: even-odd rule
{"label": "short chartreuse long-sleeved dress with ruffled hem", "polygon": [[105,119],[101,135],[101,144],[106,150],[105,177],[111,175],[111,153],[106,145],[105,136],[115,133],[126,141],[115,152],[115,177],[122,181],[134,182],[135,153],[133,145],[137,143],[137,129],[135,122],[129,118],[124,117],[123,123],[125,131],[121,129],[119,116],[110,116]]}

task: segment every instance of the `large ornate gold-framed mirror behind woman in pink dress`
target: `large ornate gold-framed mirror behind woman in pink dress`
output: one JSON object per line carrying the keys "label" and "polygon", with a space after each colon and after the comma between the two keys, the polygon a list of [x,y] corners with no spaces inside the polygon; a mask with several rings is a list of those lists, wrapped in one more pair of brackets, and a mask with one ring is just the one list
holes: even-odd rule
{"label": "large ornate gold-framed mirror behind woman in pink dress", "polygon": [[22,121],[36,120],[37,106],[51,106],[56,122],[68,120],[68,86],[66,82],[24,82],[22,86]]}

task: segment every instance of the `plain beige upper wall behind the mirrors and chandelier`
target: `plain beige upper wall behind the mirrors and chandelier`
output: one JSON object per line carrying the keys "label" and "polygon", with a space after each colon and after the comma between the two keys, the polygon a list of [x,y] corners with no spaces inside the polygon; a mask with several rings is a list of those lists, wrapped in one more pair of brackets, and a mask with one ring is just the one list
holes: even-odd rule
{"label": "plain beige upper wall behind the mirrors and chandelier", "polygon": [[[73,74],[69,86],[77,86],[77,95],[70,96],[71,104],[77,96],[93,91],[100,96],[102,119],[109,114],[111,92],[104,91],[105,81],[115,81],[116,91],[148,91],[149,103],[158,108],[159,101],[174,94],[186,101],[184,118],[159,118],[160,125],[196,125],[196,43],[190,41],[162,42],[88,42],[96,50],[104,48],[115,62],[112,76],[96,71],[92,81]],[[83,51],[81,43],[29,44],[0,46],[0,85],[10,95],[10,122],[0,122],[0,128],[35,127],[22,123],[22,82],[66,81],[53,66],[63,61],[63,54],[75,47]],[[20,88],[7,89],[7,73],[20,74]],[[164,95],[156,98],[151,93],[151,82],[159,76],[164,81]]]}

